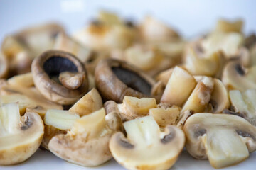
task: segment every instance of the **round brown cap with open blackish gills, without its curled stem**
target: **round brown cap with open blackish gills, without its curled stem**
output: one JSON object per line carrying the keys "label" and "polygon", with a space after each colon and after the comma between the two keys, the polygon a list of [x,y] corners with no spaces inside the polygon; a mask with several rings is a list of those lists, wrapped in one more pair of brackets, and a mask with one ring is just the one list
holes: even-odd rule
{"label": "round brown cap with open blackish gills, without its curled stem", "polygon": [[[75,103],[88,90],[88,77],[84,65],[74,55],[58,50],[48,50],[36,57],[32,63],[33,80],[38,91],[49,101],[69,105]],[[62,72],[84,74],[77,89],[70,89],[58,82]]]}

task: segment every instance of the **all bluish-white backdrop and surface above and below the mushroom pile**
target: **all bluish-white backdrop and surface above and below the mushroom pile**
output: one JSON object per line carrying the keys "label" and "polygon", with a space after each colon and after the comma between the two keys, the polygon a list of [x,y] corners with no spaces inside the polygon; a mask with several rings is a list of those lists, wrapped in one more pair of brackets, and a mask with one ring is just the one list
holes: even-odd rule
{"label": "all bluish-white backdrop and surface above and below the mushroom pile", "polygon": [[[43,3],[42,3],[43,2]],[[176,0],[176,1],[121,1],[121,0],[0,0],[0,44],[4,36],[35,23],[58,21],[69,33],[82,28],[100,9],[116,11],[121,16],[141,21],[151,14],[177,28],[186,38],[207,32],[218,18],[242,18],[245,33],[256,31],[256,1],[242,0]],[[256,153],[228,169],[256,169]],[[27,162],[16,166],[0,166],[1,170],[86,169],[69,164],[50,152],[38,150]],[[88,168],[90,169],[90,168]],[[113,160],[93,169],[122,169]],[[171,169],[213,169],[208,161],[193,159],[186,152]]]}

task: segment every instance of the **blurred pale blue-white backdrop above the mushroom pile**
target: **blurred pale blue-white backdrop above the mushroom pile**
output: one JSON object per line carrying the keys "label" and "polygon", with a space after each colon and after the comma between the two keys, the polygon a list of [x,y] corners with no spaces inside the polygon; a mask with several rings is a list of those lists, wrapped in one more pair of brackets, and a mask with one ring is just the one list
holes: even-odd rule
{"label": "blurred pale blue-white backdrop above the mushroom pile", "polygon": [[176,28],[185,38],[194,38],[215,26],[218,18],[242,18],[245,33],[256,30],[256,1],[247,0],[0,0],[0,43],[4,36],[38,23],[58,21],[73,33],[92,21],[100,10],[142,21],[152,15]]}

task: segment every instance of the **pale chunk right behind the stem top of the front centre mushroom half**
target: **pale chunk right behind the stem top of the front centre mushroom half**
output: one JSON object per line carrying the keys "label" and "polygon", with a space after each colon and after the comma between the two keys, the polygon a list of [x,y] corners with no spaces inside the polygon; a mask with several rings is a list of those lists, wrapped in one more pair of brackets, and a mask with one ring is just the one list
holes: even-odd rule
{"label": "pale chunk right behind the stem top of the front centre mushroom half", "polygon": [[[155,98],[136,98],[132,96],[124,96],[122,104],[118,104],[121,114],[130,118],[142,117],[149,114],[150,108],[156,108]],[[129,119],[130,120],[130,119]]]}

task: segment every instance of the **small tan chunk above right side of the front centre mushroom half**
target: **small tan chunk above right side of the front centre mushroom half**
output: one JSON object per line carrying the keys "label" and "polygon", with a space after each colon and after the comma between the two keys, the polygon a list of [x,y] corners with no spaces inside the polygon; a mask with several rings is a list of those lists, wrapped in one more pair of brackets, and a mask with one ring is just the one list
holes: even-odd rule
{"label": "small tan chunk above right side of the front centre mushroom half", "polygon": [[174,125],[178,120],[180,111],[178,108],[151,108],[149,115],[153,116],[160,126]]}

